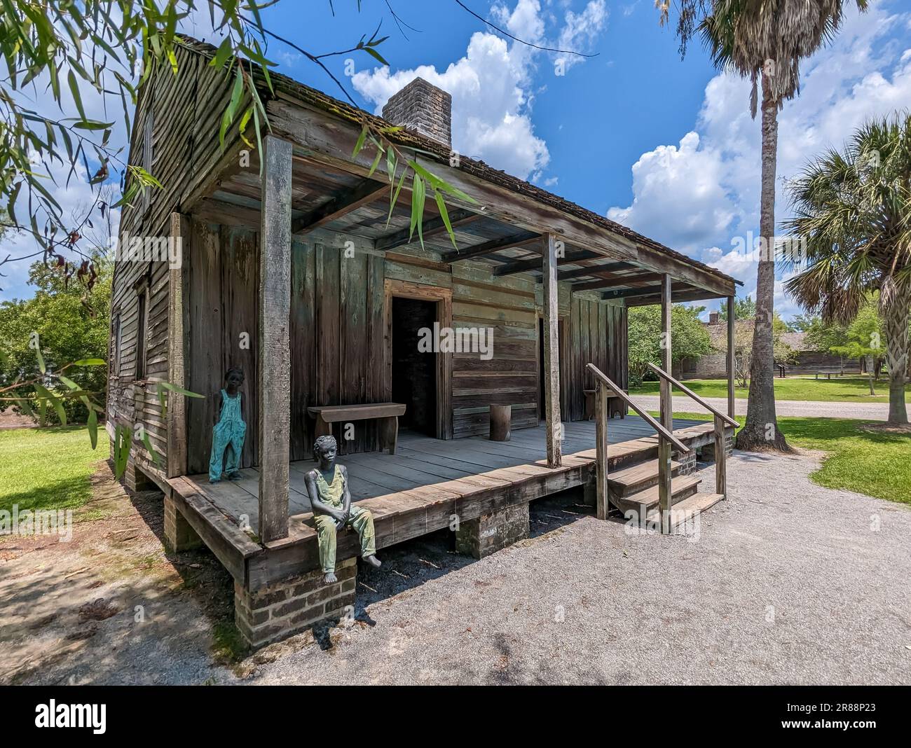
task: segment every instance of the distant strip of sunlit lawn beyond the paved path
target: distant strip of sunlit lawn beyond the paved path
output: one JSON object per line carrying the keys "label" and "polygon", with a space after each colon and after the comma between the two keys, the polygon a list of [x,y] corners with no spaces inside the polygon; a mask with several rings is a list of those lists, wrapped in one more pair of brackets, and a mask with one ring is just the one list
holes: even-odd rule
{"label": "distant strip of sunlit lawn beyond the paved path", "polygon": [[[724,379],[687,379],[683,382],[703,398],[726,398],[728,383]],[[788,378],[775,379],[775,399],[809,400],[812,402],[884,402],[889,401],[888,379],[875,382],[876,394],[870,395],[870,385],[865,377],[833,377],[832,379]],[[911,383],[905,386],[905,399],[911,393]],[[658,382],[643,382],[641,387],[630,387],[630,395],[657,395]],[[746,399],[746,389],[736,389],[738,398]]]}

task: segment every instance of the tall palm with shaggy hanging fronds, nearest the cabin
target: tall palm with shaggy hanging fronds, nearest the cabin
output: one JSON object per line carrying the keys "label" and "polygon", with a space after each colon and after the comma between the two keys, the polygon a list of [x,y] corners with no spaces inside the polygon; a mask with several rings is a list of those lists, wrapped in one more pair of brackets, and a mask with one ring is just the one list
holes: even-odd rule
{"label": "tall palm with shaggy hanging fronds, nearest the cabin", "polygon": [[[855,0],[861,11],[867,0]],[[750,110],[756,116],[762,79],[763,171],[760,207],[761,256],[756,276],[750,394],[746,422],[737,435],[741,450],[789,450],[775,418],[773,300],[775,262],[775,167],[778,111],[800,93],[800,62],[829,41],[842,23],[845,0],[677,0],[681,54],[698,30],[719,68],[752,81]],[[662,20],[669,3],[659,5]],[[701,20],[700,20],[701,19]]]}

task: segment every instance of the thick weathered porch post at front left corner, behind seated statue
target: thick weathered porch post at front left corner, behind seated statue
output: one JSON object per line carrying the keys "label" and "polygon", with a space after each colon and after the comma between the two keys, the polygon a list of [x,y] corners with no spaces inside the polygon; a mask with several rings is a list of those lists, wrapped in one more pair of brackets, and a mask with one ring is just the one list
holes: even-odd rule
{"label": "thick weathered porch post at front left corner, behind seated statue", "polygon": [[263,138],[260,212],[260,539],[288,537],[292,144]]}

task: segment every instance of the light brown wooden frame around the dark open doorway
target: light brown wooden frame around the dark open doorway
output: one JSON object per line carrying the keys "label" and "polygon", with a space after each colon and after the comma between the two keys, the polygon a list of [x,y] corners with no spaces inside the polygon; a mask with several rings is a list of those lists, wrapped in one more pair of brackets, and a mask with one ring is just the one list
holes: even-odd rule
{"label": "light brown wooden frame around the dark open doorway", "polygon": [[[384,291],[384,346],[383,372],[386,399],[393,399],[393,298],[415,298],[434,301],[436,321],[440,328],[453,326],[452,288],[411,283],[407,280],[385,278]],[[436,438],[453,438],[453,355],[451,352],[436,354]]]}

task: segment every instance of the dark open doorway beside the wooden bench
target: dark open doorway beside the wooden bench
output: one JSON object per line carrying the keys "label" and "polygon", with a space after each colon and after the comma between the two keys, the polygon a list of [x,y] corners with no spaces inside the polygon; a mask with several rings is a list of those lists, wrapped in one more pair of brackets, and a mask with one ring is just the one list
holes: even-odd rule
{"label": "dark open doorway beside the wooden bench", "polygon": [[438,354],[419,350],[418,342],[421,329],[434,329],[436,302],[398,297],[392,301],[393,400],[407,406],[399,426],[435,437]]}

